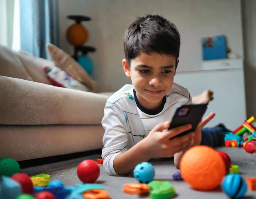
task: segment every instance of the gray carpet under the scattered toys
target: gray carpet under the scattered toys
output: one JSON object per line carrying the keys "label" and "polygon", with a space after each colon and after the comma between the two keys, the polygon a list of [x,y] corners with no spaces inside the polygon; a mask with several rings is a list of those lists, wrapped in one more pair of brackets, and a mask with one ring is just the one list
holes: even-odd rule
{"label": "gray carpet under the scattered toys", "polygon": [[[218,151],[223,151],[229,154],[232,165],[238,165],[240,175],[245,179],[246,177],[256,177],[256,154],[248,154],[243,148],[216,148]],[[36,174],[50,174],[51,180],[61,180],[65,186],[74,186],[80,184],[81,181],[76,175],[76,168],[85,159],[100,159],[100,155],[92,155],[83,158],[76,158],[58,163],[45,164],[35,166],[32,168],[23,168],[21,172],[27,173],[30,176]],[[175,198],[179,199],[228,199],[229,197],[222,191],[221,186],[212,191],[198,191],[193,190],[189,184],[184,181],[173,180],[172,174],[178,172],[172,160],[161,162],[150,162],[155,168],[154,180],[170,181],[176,191]],[[133,174],[126,177],[112,177],[108,176],[103,166],[100,165],[101,174],[95,183],[99,183],[106,188],[110,194],[111,199],[135,199],[141,198],[137,195],[128,195],[123,192],[123,186],[126,183],[136,183],[137,180]],[[149,199],[150,197],[143,197]],[[243,197],[245,199],[256,198],[256,191],[248,191]]]}

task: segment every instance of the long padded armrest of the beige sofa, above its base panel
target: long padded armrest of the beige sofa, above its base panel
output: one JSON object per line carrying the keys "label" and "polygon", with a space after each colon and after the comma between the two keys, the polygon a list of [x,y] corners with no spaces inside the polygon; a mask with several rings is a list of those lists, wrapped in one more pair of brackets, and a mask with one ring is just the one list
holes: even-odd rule
{"label": "long padded armrest of the beige sofa, above its base panel", "polygon": [[[11,91],[11,92],[10,92]],[[0,76],[0,124],[101,124],[107,95]]]}

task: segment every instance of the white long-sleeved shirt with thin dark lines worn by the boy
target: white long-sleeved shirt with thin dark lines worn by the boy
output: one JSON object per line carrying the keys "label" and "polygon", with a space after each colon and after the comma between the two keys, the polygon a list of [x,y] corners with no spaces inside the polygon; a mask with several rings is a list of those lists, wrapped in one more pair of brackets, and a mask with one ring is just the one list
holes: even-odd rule
{"label": "white long-sleeved shirt with thin dark lines worn by the boy", "polygon": [[117,176],[113,161],[118,154],[141,141],[159,123],[171,121],[177,107],[192,103],[188,89],[176,83],[158,112],[145,110],[135,98],[134,87],[125,85],[107,100],[102,119],[105,134],[101,157],[108,175]]}

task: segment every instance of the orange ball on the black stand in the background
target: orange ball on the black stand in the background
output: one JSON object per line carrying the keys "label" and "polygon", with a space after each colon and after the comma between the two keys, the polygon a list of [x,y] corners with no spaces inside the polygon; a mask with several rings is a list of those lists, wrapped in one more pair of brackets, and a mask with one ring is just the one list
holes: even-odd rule
{"label": "orange ball on the black stand in the background", "polygon": [[89,32],[83,25],[75,23],[67,28],[66,36],[71,45],[81,46],[88,40]]}

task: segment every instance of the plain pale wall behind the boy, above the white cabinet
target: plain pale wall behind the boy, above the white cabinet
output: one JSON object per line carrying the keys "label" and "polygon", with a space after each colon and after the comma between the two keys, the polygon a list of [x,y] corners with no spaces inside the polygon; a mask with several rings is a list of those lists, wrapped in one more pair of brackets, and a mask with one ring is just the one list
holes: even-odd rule
{"label": "plain pale wall behind the boy, above the white cabinet", "polygon": [[97,48],[89,56],[94,62],[93,78],[105,91],[130,83],[124,75],[124,31],[137,16],[160,14],[177,25],[182,38],[178,72],[202,69],[200,40],[225,34],[232,51],[243,56],[240,0],[59,0],[60,47],[73,54],[65,31],[74,21],[70,14],[90,16],[83,22],[90,37],[86,45]]}

